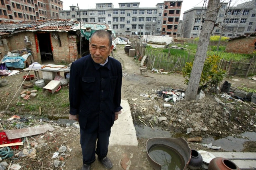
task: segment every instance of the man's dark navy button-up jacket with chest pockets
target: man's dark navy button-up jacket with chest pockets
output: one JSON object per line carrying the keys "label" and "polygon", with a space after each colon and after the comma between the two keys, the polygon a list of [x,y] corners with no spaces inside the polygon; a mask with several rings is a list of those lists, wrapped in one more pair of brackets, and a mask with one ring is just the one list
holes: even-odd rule
{"label": "man's dark navy button-up jacket with chest pockets", "polygon": [[91,55],[73,62],[69,79],[70,114],[79,115],[80,128],[87,133],[109,130],[121,103],[122,66],[108,57],[101,66]]}

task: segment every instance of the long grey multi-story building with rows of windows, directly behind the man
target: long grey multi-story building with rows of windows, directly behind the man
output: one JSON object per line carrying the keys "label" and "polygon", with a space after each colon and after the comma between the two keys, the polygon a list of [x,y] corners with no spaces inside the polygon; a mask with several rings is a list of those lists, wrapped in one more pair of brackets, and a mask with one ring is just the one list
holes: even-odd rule
{"label": "long grey multi-story building with rows of windows, directly behind the man", "polygon": [[[76,6],[70,6],[70,10],[60,11],[60,18],[80,21],[80,12],[82,22],[109,24],[117,35],[127,36],[136,33],[138,35],[162,35],[165,4],[166,10],[169,10],[173,2],[176,1],[164,1],[152,8],[139,7],[140,3],[119,3],[118,8],[114,8],[112,3],[96,3],[94,9],[80,9],[79,11]],[[171,31],[174,30],[166,30],[163,34],[171,35]]]}

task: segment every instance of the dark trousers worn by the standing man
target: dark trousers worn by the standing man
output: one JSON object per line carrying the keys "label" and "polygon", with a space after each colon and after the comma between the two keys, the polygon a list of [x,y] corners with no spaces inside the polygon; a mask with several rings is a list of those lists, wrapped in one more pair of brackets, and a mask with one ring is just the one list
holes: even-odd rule
{"label": "dark trousers worn by the standing man", "polygon": [[[107,156],[110,132],[111,129],[104,132],[99,132],[96,130],[92,133],[86,133],[86,130],[80,126],[80,144],[82,148],[84,164],[90,165],[93,163],[95,161],[95,153],[98,155],[99,159]],[[97,139],[97,148],[95,148]]]}

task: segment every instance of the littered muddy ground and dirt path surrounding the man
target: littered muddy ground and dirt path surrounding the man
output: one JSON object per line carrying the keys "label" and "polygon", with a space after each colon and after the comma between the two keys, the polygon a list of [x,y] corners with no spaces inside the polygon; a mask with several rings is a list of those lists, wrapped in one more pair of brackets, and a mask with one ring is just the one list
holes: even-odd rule
{"label": "littered muddy ground and dirt path surrounding the man", "polygon": [[[228,105],[218,104],[215,100],[215,95],[206,94],[206,97],[199,101],[181,101],[171,103],[172,107],[164,108],[162,104],[164,99],[157,91],[164,88],[185,89],[183,83],[184,78],[180,73],[170,73],[168,75],[160,73],[151,73],[145,77],[139,74],[139,61],[133,57],[129,57],[124,52],[123,46],[118,46],[115,51],[115,58],[123,65],[123,72],[129,75],[123,77],[122,98],[127,99],[130,104],[133,122],[136,127],[160,129],[165,132],[170,132],[170,137],[196,137],[203,138],[213,137],[222,138],[226,136],[234,136],[237,138],[246,138],[241,135],[242,132],[255,132],[254,127],[256,122],[256,105],[252,103],[236,102]],[[13,160],[12,163],[20,163],[22,169],[61,169],[53,166],[53,160],[61,160],[65,162],[63,169],[73,170],[79,169],[82,165],[81,151],[79,144],[79,131],[72,126],[58,124],[55,120],[59,118],[67,118],[69,112],[68,105],[68,88],[62,88],[57,94],[51,95],[48,92],[42,92],[40,89],[38,96],[31,98],[29,101],[24,101],[14,97],[9,108],[7,105],[18,90],[22,83],[22,76],[19,75],[2,77],[7,79],[9,84],[0,87],[0,111],[1,125],[3,129],[16,129],[27,126],[35,126],[38,124],[52,124],[55,130],[42,135],[28,137],[24,146],[21,146],[19,151],[30,146],[28,143],[36,144],[37,156],[35,159],[24,157],[18,160]],[[41,75],[42,76],[42,75]],[[232,79],[238,79],[235,81]],[[253,80],[230,77],[225,78],[232,83],[232,87],[247,87],[255,89]],[[32,90],[32,89],[31,89]],[[18,91],[18,94],[21,90]],[[9,94],[8,94],[9,93]],[[143,96],[140,96],[143,94]],[[217,95],[224,103],[234,102],[233,100],[224,99]],[[42,115],[39,115],[39,106],[42,108]],[[19,115],[22,118],[27,118],[24,122],[18,120],[8,121],[12,115]],[[166,117],[166,120],[158,118]],[[151,125],[150,125],[151,124]],[[19,126],[18,126],[19,125]],[[151,127],[152,126],[152,127]],[[145,128],[145,129],[146,129]],[[187,128],[193,128],[194,131],[186,135]],[[152,129],[152,131],[154,131]],[[138,134],[139,136],[139,134]],[[159,136],[152,136],[159,137]],[[122,169],[120,166],[121,158],[127,155],[131,160],[130,169],[152,169],[146,159],[145,144],[148,138],[138,137],[139,146],[116,146],[110,147],[109,156],[114,162],[113,169]],[[65,155],[58,158],[51,158],[53,153],[61,147],[68,146]],[[253,148],[254,141],[247,141],[245,145]],[[225,150],[212,150],[205,148],[201,143],[189,143],[191,148],[197,150],[206,150],[209,152],[225,152]],[[236,148],[234,148],[236,150]],[[247,152],[256,152],[246,150]],[[18,151],[15,151],[15,153]],[[16,157],[15,157],[16,158]],[[7,160],[10,163],[11,159]],[[92,169],[104,169],[100,164],[94,163]]]}

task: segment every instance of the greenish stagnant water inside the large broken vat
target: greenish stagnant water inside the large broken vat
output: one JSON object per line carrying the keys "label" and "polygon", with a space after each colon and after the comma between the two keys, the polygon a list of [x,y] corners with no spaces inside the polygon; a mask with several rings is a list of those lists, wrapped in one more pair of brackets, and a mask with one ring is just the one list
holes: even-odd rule
{"label": "greenish stagnant water inside the large broken vat", "polygon": [[171,147],[156,145],[149,149],[148,154],[152,160],[162,165],[161,170],[181,170],[184,167],[184,160]]}

